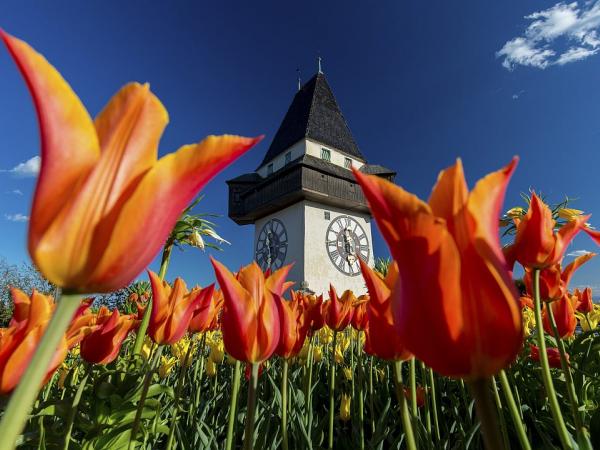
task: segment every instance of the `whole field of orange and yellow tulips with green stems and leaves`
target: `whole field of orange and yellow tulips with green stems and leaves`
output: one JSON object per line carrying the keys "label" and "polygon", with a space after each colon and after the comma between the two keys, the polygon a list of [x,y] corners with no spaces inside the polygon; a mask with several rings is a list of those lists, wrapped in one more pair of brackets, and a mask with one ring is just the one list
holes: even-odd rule
{"label": "whole field of orange and yellow tulips with green stems and leaves", "polygon": [[571,286],[596,254],[566,256],[600,232],[534,191],[503,205],[518,158],[471,190],[458,160],[427,201],[354,169],[391,255],[360,260],[364,292],[218,257],[213,284],[188,286],[173,249],[223,241],[194,199],[261,137],[157,159],[167,113],[147,85],[92,120],[0,35],[38,115],[28,250],[53,286],[10,286],[0,450],[600,448],[600,305]]}

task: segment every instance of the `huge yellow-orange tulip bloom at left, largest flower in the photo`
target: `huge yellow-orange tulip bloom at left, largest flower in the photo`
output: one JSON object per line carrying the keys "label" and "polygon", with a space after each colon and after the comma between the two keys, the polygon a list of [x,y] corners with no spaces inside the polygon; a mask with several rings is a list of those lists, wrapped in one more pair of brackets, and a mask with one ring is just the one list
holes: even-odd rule
{"label": "huge yellow-orange tulip bloom at left, largest flower in the photo", "polygon": [[42,55],[0,36],[40,124],[42,165],[29,253],[64,289],[110,292],[127,285],[152,261],[198,191],[260,140],[211,136],[157,160],[168,115],[147,84],[123,87],[92,121]]}

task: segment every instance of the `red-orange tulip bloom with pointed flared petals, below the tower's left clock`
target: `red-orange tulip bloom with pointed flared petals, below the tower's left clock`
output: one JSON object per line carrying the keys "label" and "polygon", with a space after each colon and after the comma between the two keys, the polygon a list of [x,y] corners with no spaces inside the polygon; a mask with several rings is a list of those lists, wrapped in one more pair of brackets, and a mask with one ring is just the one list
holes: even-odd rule
{"label": "red-orange tulip bloom with pointed flared petals, below the tower's left clock", "polygon": [[211,258],[225,306],[221,317],[225,350],[238,361],[260,363],[279,343],[280,319],[273,294],[282,295],[291,266],[268,274],[258,264],[243,267],[237,276]]}

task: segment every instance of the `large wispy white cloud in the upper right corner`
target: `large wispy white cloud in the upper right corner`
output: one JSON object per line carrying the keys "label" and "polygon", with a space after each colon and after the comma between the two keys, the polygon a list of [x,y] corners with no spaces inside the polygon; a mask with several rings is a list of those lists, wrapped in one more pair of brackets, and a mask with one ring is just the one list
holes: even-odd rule
{"label": "large wispy white cloud in the upper right corner", "polygon": [[560,2],[525,16],[525,19],[532,22],[523,35],[507,41],[496,52],[498,58],[504,58],[502,66],[508,70],[516,66],[538,69],[562,66],[600,51],[597,34],[600,30],[600,0],[586,2],[581,8],[578,2]]}

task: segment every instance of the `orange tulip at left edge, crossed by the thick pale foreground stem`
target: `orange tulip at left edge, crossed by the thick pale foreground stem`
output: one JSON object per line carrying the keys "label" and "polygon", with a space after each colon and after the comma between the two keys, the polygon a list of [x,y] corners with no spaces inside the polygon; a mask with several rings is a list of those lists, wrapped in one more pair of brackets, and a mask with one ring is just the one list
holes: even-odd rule
{"label": "orange tulip at left edge, crossed by the thick pale foreground stem", "polygon": [[[19,383],[55,308],[52,297],[35,289],[31,296],[27,296],[23,291],[11,288],[11,295],[15,305],[13,317],[8,328],[0,329],[0,395],[10,393]],[[71,322],[68,333],[62,337],[48,364],[46,381],[65,359],[69,345],[75,345],[83,337],[84,333],[80,331],[87,321],[77,319],[88,306],[89,303],[83,304]]]}

